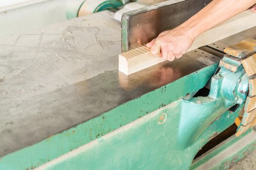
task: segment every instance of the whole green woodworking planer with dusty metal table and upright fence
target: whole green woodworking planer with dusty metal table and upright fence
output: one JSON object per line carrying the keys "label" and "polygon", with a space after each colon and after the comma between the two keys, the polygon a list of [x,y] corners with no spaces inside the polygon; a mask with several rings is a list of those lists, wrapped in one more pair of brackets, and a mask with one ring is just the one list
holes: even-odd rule
{"label": "whole green woodworking planer with dusty metal table and upright fence", "polygon": [[106,10],[1,39],[0,170],[222,170],[252,152],[256,27],[118,71],[118,54],[209,2],[166,1],[121,24]]}

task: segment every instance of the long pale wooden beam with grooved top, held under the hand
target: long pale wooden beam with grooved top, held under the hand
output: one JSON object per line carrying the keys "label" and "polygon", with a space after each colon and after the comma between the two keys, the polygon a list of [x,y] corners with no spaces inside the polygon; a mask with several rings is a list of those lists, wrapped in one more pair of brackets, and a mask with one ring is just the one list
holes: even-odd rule
{"label": "long pale wooden beam with grooved top, held under the hand", "polygon": [[[220,39],[256,26],[256,13],[244,11],[232,17],[216,27],[200,34],[188,51],[211,44]],[[119,71],[129,75],[144,68],[154,66],[165,60],[151,54],[150,49],[140,47],[131,51],[119,54]]]}

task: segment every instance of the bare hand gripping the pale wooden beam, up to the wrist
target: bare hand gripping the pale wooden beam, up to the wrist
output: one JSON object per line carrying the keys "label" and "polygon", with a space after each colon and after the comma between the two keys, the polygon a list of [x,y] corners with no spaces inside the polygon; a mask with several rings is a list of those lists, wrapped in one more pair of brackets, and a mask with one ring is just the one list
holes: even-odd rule
{"label": "bare hand gripping the pale wooden beam, up to the wrist", "polygon": [[151,48],[153,55],[173,61],[180,58],[192,45],[194,37],[188,28],[175,28],[164,31],[146,46]]}

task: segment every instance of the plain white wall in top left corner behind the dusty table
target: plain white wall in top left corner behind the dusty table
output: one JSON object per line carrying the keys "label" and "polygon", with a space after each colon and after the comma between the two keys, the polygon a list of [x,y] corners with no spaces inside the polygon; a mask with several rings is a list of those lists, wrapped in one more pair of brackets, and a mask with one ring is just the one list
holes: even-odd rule
{"label": "plain white wall in top left corner behind the dusty table", "polygon": [[66,20],[67,0],[0,0],[0,37]]}

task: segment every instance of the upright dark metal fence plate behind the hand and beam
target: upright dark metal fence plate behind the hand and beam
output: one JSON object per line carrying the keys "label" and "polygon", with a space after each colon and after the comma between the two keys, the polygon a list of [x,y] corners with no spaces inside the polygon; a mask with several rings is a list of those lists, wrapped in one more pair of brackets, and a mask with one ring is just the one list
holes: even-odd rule
{"label": "upright dark metal fence plate behind the hand and beam", "polygon": [[168,0],[124,13],[122,51],[145,45],[163,31],[173,29],[212,0]]}

